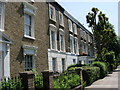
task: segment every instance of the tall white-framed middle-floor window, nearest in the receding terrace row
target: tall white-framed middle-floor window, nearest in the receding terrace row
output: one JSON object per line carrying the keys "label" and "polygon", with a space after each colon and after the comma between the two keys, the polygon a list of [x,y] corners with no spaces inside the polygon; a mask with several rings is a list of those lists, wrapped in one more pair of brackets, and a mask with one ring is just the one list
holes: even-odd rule
{"label": "tall white-framed middle-floor window, nearest in the receding terrace row", "polygon": [[57,50],[57,31],[54,25],[50,25],[50,48]]}

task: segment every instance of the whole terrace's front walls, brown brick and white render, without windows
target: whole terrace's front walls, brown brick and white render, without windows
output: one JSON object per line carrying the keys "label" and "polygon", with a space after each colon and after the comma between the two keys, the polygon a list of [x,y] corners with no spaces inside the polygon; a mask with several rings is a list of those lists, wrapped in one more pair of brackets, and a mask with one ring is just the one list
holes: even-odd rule
{"label": "whole terrace's front walls, brown brick and white render, without windows", "polygon": [[[49,4],[55,8],[56,22],[49,19]],[[61,59],[65,59],[66,68],[68,65],[73,64],[73,61],[69,62],[69,58],[71,58],[71,60],[75,59],[76,63],[78,63],[80,61],[79,57],[83,55],[80,28],[88,35],[91,36],[92,34],[69,13],[66,14],[65,9],[57,2],[34,2],[30,3],[30,5],[37,8],[34,20],[35,39],[24,37],[24,4],[21,2],[7,2],[5,4],[5,23],[3,33],[5,33],[13,41],[10,47],[10,75],[14,77],[17,76],[19,72],[23,72],[25,70],[25,56],[23,54],[24,45],[37,47],[34,63],[35,68],[39,73],[43,70],[52,70],[52,55],[55,55],[55,58],[59,58],[58,64],[61,63]],[[63,14],[64,26],[61,26],[59,23],[59,12]],[[77,35],[69,31],[68,19],[77,25]],[[56,26],[57,28],[57,51],[50,49],[50,24]],[[59,29],[63,30],[65,36],[64,52],[60,52]],[[79,54],[71,54],[70,52],[70,34],[78,38]],[[88,39],[86,39],[85,42],[88,45]],[[90,45],[93,44],[90,43]],[[89,53],[87,52],[86,56],[88,55]],[[59,67],[62,67],[61,64]],[[61,69],[59,69],[59,71],[61,71]]]}

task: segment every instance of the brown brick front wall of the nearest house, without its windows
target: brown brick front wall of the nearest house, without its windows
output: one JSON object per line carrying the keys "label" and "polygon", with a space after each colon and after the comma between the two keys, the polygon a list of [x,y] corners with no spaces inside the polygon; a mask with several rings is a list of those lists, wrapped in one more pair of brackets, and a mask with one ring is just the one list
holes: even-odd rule
{"label": "brown brick front wall of the nearest house, without its windows", "polygon": [[35,40],[24,37],[24,13],[23,3],[6,3],[5,9],[5,34],[12,40],[10,51],[11,76],[24,71],[23,45],[37,46],[35,67],[38,72],[48,69],[47,58],[47,9],[46,3],[34,3],[37,10],[35,15]]}

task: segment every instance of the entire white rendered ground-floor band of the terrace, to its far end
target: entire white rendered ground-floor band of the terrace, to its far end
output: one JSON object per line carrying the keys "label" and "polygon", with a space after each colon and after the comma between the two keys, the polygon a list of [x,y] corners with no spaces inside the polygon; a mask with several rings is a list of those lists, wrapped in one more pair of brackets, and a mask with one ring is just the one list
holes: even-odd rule
{"label": "entire white rendered ground-floor band of the terrace, to its far end", "polygon": [[[93,61],[94,58],[90,58],[89,56],[77,56],[70,53],[61,53],[59,51],[52,51],[48,50],[48,65],[49,70],[53,71],[52,69],[52,58],[56,58],[57,60],[57,71],[62,72],[62,59],[65,59],[65,69],[72,64],[77,64],[81,61],[81,64],[89,64],[89,61]],[[73,62],[75,60],[75,63]]]}

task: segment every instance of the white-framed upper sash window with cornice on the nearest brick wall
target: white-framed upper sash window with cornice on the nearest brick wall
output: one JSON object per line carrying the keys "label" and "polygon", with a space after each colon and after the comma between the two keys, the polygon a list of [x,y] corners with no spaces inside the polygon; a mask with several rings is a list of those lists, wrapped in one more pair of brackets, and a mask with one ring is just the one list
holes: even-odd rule
{"label": "white-framed upper sash window with cornice on the nearest brick wall", "polygon": [[34,16],[36,8],[24,2],[24,37],[35,39],[34,35]]}

